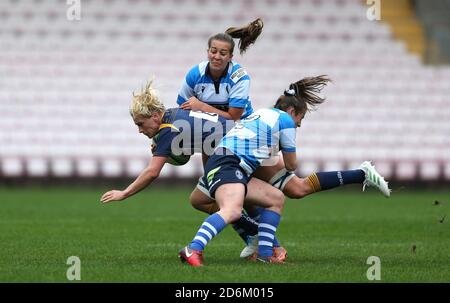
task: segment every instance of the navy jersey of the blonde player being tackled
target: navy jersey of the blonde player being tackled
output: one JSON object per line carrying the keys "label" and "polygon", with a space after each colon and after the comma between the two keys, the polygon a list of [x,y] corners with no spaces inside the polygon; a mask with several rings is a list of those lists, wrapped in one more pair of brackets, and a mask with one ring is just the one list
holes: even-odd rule
{"label": "navy jersey of the blonde player being tackled", "polygon": [[217,143],[234,123],[217,114],[169,108],[153,137],[154,156],[212,154]]}

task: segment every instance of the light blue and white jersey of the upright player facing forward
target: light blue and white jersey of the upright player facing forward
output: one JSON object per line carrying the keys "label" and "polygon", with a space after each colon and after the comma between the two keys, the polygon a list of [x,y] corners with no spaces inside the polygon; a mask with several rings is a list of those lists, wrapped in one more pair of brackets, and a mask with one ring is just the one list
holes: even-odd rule
{"label": "light blue and white jersey of the upright player facing forward", "polygon": [[245,69],[231,61],[220,78],[217,91],[213,79],[207,72],[208,63],[204,61],[187,73],[178,93],[177,103],[181,105],[195,96],[200,101],[225,111],[228,107],[243,108],[241,119],[251,115],[253,108],[248,96],[250,77]]}

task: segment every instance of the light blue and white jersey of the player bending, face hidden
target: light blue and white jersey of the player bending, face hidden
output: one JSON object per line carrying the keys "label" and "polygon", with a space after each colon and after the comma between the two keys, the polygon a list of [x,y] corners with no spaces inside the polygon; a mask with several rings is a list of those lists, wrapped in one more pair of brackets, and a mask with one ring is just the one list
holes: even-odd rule
{"label": "light blue and white jersey of the player bending, face hidden", "polygon": [[252,174],[264,160],[281,150],[295,152],[296,126],[292,117],[279,109],[260,109],[236,123],[218,145],[241,159]]}

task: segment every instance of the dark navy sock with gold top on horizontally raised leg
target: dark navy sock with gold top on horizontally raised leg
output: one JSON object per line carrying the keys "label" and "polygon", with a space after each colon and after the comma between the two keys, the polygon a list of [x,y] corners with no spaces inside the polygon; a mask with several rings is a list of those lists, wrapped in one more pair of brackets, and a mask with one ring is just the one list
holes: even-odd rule
{"label": "dark navy sock with gold top on horizontally raised leg", "polygon": [[365,179],[365,173],[362,169],[318,172],[310,175],[309,182],[314,191],[332,189],[346,184],[362,184]]}

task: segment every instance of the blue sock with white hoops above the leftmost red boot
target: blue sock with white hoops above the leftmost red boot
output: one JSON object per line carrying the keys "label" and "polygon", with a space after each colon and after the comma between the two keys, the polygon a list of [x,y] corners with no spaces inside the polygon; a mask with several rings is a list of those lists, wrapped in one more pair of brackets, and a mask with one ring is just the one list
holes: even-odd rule
{"label": "blue sock with white hoops above the leftmost red boot", "polygon": [[206,244],[212,240],[218,233],[220,233],[227,224],[225,220],[217,213],[212,214],[203,222],[198,230],[195,238],[192,240],[189,247],[194,250],[202,251]]}

